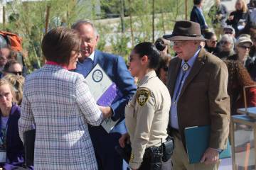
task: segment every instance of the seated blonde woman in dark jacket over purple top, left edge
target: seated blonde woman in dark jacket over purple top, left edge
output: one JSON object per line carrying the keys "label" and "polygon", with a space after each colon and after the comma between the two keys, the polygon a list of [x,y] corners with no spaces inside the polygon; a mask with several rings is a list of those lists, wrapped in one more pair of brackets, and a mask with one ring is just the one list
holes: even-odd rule
{"label": "seated blonde woman in dark jacket over purple top, left edge", "polygon": [[[12,85],[0,79],[0,153],[6,155],[6,159],[1,156],[0,166],[4,169],[16,169],[24,162],[24,147],[18,135],[18,119],[21,116],[21,108],[15,101],[15,92]],[[20,168],[22,169],[22,168]]]}

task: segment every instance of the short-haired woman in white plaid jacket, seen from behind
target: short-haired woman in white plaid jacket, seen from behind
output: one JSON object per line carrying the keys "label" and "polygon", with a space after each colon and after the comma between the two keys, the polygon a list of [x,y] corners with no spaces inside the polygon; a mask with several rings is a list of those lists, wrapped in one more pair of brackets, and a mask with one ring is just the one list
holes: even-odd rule
{"label": "short-haired woman in white plaid jacket, seen from behind", "polygon": [[75,30],[54,28],[43,38],[45,66],[26,77],[18,129],[36,123],[35,169],[97,169],[87,124],[100,125],[103,113],[75,69],[80,38]]}

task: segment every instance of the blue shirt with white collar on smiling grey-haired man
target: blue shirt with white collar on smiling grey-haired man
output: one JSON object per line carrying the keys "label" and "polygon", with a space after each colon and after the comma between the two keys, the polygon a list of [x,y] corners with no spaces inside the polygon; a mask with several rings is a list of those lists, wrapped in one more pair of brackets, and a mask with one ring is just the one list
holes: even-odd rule
{"label": "blue shirt with white collar on smiling grey-haired man", "polygon": [[92,54],[89,57],[85,58],[85,60],[83,60],[82,62],[78,61],[75,72],[78,72],[86,77],[87,74],[92,70],[94,57],[95,51],[92,52]]}

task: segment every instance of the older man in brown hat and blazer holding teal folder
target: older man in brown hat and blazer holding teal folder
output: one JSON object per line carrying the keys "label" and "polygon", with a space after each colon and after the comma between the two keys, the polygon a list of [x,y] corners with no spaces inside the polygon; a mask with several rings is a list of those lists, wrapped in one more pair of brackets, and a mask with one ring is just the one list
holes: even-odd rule
{"label": "older man in brown hat and blazer holding teal folder", "polygon": [[[171,35],[177,54],[169,64],[167,86],[171,94],[169,132],[174,136],[173,168],[218,169],[219,153],[225,149],[230,123],[227,93],[228,69],[218,57],[206,52],[200,42],[198,23],[177,21]],[[210,125],[210,143],[201,163],[189,164],[184,129]]]}

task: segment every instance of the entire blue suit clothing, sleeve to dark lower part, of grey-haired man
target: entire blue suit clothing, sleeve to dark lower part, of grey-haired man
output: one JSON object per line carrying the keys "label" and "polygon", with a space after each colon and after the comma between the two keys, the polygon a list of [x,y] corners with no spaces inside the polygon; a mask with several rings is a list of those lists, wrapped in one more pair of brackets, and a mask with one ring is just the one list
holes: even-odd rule
{"label": "entire blue suit clothing, sleeve to dark lower part, of grey-haired man", "polygon": [[[122,98],[112,103],[112,120],[119,122],[124,119],[124,107],[136,92],[134,79],[127,69],[122,57],[107,54],[95,50],[93,65],[99,64],[112,81],[122,92]],[[78,66],[79,67],[79,66]],[[83,68],[82,68],[83,69]],[[77,70],[75,70],[76,72]],[[84,75],[86,76],[86,75]],[[120,129],[113,133],[107,133],[102,126],[89,126],[90,137],[95,149],[95,155],[99,169],[119,170],[122,169],[122,157],[115,151],[114,147],[119,145]],[[102,142],[104,141],[104,142]]]}

